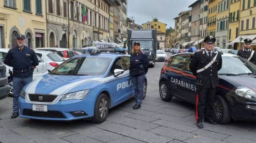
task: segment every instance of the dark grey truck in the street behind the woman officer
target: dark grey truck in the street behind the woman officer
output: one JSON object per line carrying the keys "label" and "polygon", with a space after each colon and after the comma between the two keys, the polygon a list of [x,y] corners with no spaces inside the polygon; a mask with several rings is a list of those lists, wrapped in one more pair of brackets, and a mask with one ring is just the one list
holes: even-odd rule
{"label": "dark grey truck in the street behind the woman officer", "polygon": [[128,50],[131,54],[133,43],[138,41],[141,44],[141,50],[148,56],[149,65],[154,67],[156,59],[156,50],[159,49],[159,42],[156,38],[155,29],[132,29],[128,30]]}

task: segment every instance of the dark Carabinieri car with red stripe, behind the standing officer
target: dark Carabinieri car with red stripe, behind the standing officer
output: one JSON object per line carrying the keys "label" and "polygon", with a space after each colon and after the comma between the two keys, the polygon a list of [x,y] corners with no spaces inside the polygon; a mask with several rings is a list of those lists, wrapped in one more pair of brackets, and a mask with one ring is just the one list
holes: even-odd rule
{"label": "dark Carabinieri car with red stripe, behind the standing officer", "polygon": [[[189,69],[193,53],[171,56],[161,70],[159,92],[163,101],[177,97],[196,104],[195,76]],[[219,124],[233,120],[256,120],[256,65],[224,53],[213,103],[213,119]]]}

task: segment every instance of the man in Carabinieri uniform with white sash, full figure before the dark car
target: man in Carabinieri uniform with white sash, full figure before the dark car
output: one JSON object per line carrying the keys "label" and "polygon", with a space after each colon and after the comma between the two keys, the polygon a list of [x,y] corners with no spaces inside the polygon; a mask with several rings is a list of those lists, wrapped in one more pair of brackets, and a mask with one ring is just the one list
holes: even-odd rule
{"label": "man in Carabinieri uniform with white sash, full figure before the dark car", "polygon": [[221,53],[213,50],[216,39],[207,36],[204,39],[205,50],[195,52],[189,68],[196,76],[196,122],[198,128],[204,128],[202,121],[217,124],[212,118],[212,104],[218,84],[218,71],[221,69]]}

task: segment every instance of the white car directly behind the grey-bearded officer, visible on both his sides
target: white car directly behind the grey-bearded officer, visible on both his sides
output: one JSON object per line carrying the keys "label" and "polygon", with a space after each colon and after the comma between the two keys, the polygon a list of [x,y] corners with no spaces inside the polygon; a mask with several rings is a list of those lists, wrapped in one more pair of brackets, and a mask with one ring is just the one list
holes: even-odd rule
{"label": "white car directly behind the grey-bearded officer, visible on both his sides", "polygon": [[[7,56],[8,51],[9,49],[7,48],[0,48],[0,58],[2,61],[5,60],[5,57]],[[46,63],[39,56],[37,56],[37,58],[39,61],[39,65],[37,65],[36,68],[34,69],[33,80],[48,74]],[[8,84],[10,87],[10,95],[13,96],[13,82],[10,79],[10,74],[9,74],[9,69],[12,71],[13,67],[9,67],[8,65],[5,65],[5,66],[6,66],[6,76],[8,77]]]}

